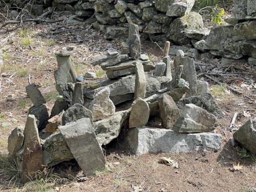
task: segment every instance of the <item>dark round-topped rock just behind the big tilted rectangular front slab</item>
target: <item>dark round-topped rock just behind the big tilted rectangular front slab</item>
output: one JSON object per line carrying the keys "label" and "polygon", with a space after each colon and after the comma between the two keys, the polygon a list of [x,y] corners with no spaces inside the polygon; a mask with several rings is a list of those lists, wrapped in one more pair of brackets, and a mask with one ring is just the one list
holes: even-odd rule
{"label": "dark round-topped rock just behind the big tilted rectangular front slab", "polygon": [[89,118],[93,124],[93,113],[89,109],[85,108],[81,104],[74,104],[62,115],[62,125],[66,125],[69,122],[77,121],[81,118]]}

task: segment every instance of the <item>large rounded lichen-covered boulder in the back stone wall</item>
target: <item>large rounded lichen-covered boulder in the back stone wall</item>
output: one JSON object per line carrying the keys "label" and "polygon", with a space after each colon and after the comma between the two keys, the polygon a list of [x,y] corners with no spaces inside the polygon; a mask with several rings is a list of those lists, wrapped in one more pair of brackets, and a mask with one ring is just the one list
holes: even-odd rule
{"label": "large rounded lichen-covered boulder in the back stone wall", "polygon": [[186,30],[202,30],[203,19],[199,13],[190,12],[183,17],[178,17],[169,26],[168,37],[177,44],[187,45],[190,39],[182,32]]}

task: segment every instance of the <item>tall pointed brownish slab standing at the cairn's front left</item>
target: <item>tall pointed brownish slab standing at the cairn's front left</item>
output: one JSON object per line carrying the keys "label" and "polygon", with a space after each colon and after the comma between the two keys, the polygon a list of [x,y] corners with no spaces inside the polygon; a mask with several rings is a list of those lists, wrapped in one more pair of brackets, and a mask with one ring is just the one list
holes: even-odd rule
{"label": "tall pointed brownish slab standing at the cairn's front left", "polygon": [[42,147],[34,115],[28,115],[24,129],[24,151],[22,164],[22,181],[35,179],[35,173],[42,169]]}

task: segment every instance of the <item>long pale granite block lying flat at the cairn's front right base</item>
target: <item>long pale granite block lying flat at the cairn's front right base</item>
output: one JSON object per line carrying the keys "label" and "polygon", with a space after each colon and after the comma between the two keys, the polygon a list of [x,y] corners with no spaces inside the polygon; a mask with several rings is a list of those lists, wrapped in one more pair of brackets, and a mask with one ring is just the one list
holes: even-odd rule
{"label": "long pale granite block lying flat at the cairn's front right base", "polygon": [[129,130],[127,143],[135,155],[142,155],[218,151],[221,147],[221,139],[221,134],[216,133],[183,134],[143,126]]}

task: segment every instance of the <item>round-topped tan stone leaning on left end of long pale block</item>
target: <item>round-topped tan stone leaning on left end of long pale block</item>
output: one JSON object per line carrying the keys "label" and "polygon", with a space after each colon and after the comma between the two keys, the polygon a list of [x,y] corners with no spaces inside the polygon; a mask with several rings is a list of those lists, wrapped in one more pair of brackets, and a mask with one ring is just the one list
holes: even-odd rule
{"label": "round-topped tan stone leaning on left end of long pale block", "polygon": [[129,128],[146,125],[150,117],[150,108],[146,101],[141,98],[136,99],[132,104],[129,118]]}

